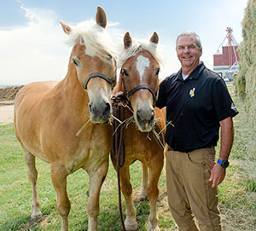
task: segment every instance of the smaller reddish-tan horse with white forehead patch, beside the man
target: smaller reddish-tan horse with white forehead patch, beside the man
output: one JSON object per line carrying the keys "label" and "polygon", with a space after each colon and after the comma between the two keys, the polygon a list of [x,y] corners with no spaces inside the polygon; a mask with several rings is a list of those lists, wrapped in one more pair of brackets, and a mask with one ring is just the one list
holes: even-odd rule
{"label": "smaller reddish-tan horse with white forehead patch, beside the man", "polygon": [[[126,124],[127,127],[123,130],[125,164],[119,169],[121,190],[126,203],[125,229],[127,230],[137,230],[129,173],[129,166],[137,159],[143,163],[143,183],[139,199],[148,196],[150,203],[148,230],[159,230],[156,203],[164,152],[158,141],[154,139],[151,130],[165,130],[166,122],[163,112],[159,108],[154,108],[159,88],[158,73],[160,72],[160,55],[156,50],[158,40],[158,35],[154,32],[150,43],[133,44],[129,32],[126,32],[125,48],[119,58],[121,67],[119,83],[113,90],[115,95],[118,95],[119,91],[125,93],[127,106],[130,107],[130,110],[125,110],[125,118],[133,116],[135,120],[135,123]],[[113,155],[112,161],[116,166],[116,159],[113,158]]]}

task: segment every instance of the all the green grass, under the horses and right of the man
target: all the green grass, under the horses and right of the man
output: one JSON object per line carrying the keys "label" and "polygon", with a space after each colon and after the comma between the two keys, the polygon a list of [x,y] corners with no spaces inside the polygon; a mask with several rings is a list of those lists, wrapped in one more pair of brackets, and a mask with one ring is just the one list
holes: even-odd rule
{"label": "all the green grass, under the horses and right of the man", "polygon": [[[236,136],[230,153],[230,167],[227,169],[224,182],[218,187],[219,207],[223,230],[252,231],[256,227],[256,136],[255,130],[247,123],[247,115],[243,112],[240,101],[233,94],[234,87],[231,84],[228,84],[228,87],[240,113],[234,118]],[[31,185],[20,144],[15,138],[13,124],[0,125],[0,145],[0,230],[61,230],[49,165],[37,160],[38,196],[43,219],[39,223],[32,223]],[[138,194],[141,174],[141,165],[138,162],[131,165],[134,199]],[[69,215],[70,230],[87,230],[88,180],[84,170],[78,170],[67,178],[67,191],[72,204]],[[159,184],[159,226],[161,230],[172,231],[176,226],[167,204],[164,172],[160,176]],[[147,230],[148,201],[137,202],[136,207],[139,230]],[[123,211],[125,216],[124,200]],[[116,172],[111,162],[108,176],[102,186],[98,223],[99,231],[121,230]]]}

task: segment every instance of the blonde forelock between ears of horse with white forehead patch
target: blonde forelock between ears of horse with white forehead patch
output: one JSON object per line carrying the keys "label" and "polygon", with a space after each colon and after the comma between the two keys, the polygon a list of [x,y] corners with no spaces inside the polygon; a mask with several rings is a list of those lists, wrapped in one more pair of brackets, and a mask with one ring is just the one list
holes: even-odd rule
{"label": "blonde forelock between ears of horse with white forehead patch", "polygon": [[128,49],[123,49],[118,59],[118,68],[124,65],[125,61],[127,61],[132,55],[135,55],[138,51],[147,50],[151,55],[153,55],[154,59],[158,61],[161,65],[163,61],[160,57],[160,53],[157,50],[156,43],[146,43],[146,42],[138,42],[132,40],[132,45]]}

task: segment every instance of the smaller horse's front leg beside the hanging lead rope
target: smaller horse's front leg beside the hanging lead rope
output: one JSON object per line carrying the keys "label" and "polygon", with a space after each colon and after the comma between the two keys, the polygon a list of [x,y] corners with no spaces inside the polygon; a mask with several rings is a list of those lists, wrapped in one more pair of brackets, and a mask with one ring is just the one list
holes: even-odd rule
{"label": "smaller horse's front leg beside the hanging lead rope", "polygon": [[121,190],[125,197],[125,204],[126,204],[125,229],[127,231],[137,230],[136,210],[133,205],[133,200],[131,197],[132,188],[131,188],[131,182],[130,182],[129,166],[124,166],[120,168],[120,181],[121,181]]}

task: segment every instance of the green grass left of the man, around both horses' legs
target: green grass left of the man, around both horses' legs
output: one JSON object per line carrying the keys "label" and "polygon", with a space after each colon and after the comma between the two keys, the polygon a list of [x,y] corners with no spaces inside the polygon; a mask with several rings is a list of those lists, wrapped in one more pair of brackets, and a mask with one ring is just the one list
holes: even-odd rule
{"label": "green grass left of the man, around both horses' legs", "polygon": [[[61,230],[61,219],[55,208],[55,190],[49,175],[49,165],[37,159],[38,197],[43,219],[40,223],[30,222],[32,192],[27,177],[20,143],[15,138],[14,124],[0,126],[0,230]],[[131,184],[138,194],[142,171],[139,162],[131,165]],[[86,205],[89,177],[78,170],[67,178],[67,192],[72,208],[69,214],[70,230],[87,230]],[[166,204],[165,177],[160,177],[160,210],[168,211]],[[136,203],[139,230],[147,230],[148,201]],[[125,216],[125,203],[123,200]],[[102,186],[98,230],[120,230],[118,187],[116,171],[110,161],[108,176]],[[172,218],[160,214],[160,227],[174,227]],[[169,229],[168,229],[169,230]]]}

